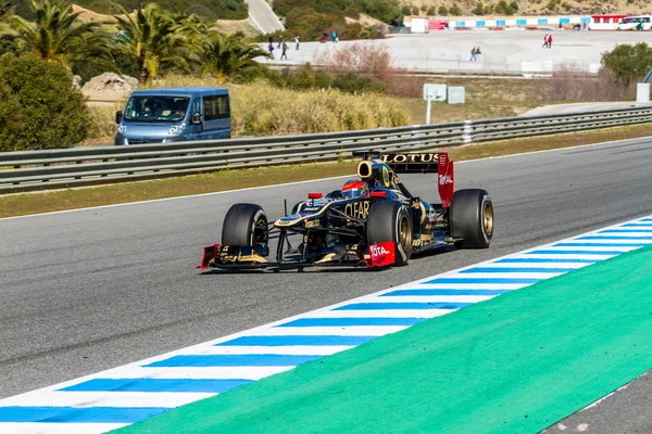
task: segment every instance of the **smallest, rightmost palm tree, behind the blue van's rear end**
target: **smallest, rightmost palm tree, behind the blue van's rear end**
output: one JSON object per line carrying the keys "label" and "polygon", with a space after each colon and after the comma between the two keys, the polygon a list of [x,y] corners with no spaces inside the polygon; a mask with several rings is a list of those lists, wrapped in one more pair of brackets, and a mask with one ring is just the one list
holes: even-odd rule
{"label": "smallest, rightmost palm tree, behind the blue van's rear end", "polygon": [[213,33],[204,43],[201,71],[218,78],[238,77],[262,68],[256,58],[273,59],[265,50],[243,42],[237,35]]}

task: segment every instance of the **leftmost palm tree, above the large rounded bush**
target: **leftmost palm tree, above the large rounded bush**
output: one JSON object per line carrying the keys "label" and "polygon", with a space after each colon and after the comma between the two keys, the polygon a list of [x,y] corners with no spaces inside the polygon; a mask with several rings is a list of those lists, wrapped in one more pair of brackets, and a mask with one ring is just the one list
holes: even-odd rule
{"label": "leftmost palm tree, above the large rounded bush", "polygon": [[13,13],[4,15],[0,36],[12,38],[22,52],[72,68],[76,63],[92,62],[113,68],[110,34],[101,23],[82,23],[70,4],[50,0],[29,0],[35,23]]}

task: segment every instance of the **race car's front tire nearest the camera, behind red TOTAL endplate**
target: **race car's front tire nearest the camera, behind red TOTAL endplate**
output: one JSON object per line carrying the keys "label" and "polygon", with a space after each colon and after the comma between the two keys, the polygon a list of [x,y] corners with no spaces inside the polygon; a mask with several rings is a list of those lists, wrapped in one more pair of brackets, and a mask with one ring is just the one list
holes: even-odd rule
{"label": "race car's front tire nearest the camera, behind red TOTAL endplate", "polygon": [[367,218],[366,239],[369,245],[393,241],[394,265],[408,265],[412,254],[412,217],[408,208],[394,201],[374,203]]}

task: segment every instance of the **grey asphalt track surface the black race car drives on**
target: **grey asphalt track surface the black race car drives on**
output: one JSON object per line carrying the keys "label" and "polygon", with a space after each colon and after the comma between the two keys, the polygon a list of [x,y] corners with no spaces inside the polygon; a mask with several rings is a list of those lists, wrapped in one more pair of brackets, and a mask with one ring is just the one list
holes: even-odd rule
{"label": "grey asphalt track surface the black race car drives on", "polygon": [[[491,247],[373,272],[193,269],[233,203],[260,203],[274,218],[283,199],[344,179],[0,220],[0,397],[649,215],[651,167],[652,139],[459,164],[457,189],[485,188],[494,202]],[[435,176],[403,180],[437,197]],[[651,407],[645,379],[620,406]],[[611,413],[609,423],[625,418],[617,404]]]}

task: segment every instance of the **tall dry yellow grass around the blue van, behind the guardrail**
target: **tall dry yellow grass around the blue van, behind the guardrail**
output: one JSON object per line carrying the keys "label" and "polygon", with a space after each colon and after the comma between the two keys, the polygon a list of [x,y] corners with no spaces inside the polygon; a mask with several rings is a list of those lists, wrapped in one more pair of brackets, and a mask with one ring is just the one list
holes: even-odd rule
{"label": "tall dry yellow grass around the blue van, behind the guardrail", "polygon": [[[337,90],[296,91],[264,81],[224,85],[215,78],[170,76],[153,87],[226,86],[231,94],[231,131],[238,136],[303,135],[410,125],[410,111],[387,95],[351,95]],[[89,107],[90,139],[112,140],[114,112]]]}

